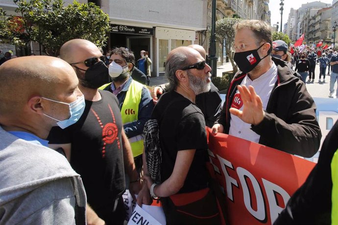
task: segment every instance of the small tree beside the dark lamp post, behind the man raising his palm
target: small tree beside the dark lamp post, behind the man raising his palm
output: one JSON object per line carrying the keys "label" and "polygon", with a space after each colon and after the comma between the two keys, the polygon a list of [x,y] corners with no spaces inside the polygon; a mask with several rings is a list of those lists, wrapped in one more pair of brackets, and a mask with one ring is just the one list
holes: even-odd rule
{"label": "small tree beside the dark lamp post, behind the man raising his palm", "polygon": [[234,63],[234,58],[233,58],[231,49],[232,49],[232,46],[234,45],[234,39],[235,39],[234,26],[236,23],[240,21],[241,19],[239,18],[226,17],[216,22],[216,39],[219,43],[223,43],[223,40],[225,40],[226,55],[229,57],[234,73],[237,72],[238,67]]}

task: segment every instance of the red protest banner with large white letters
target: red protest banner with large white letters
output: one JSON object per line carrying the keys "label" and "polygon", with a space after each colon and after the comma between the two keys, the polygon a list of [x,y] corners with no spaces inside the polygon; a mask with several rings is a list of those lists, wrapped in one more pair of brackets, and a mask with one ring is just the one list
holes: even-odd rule
{"label": "red protest banner with large white letters", "polygon": [[227,225],[272,224],[315,163],[238,137],[215,136],[210,128],[207,131],[211,175],[225,193]]}

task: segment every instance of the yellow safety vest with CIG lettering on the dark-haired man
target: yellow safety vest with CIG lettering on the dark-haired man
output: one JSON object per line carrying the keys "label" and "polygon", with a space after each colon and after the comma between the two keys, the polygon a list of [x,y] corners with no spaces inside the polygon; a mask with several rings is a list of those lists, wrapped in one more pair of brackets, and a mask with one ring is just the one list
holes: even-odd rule
{"label": "yellow safety vest with CIG lettering on the dark-haired man", "polygon": [[[139,82],[132,81],[121,108],[123,126],[138,120],[139,104],[141,102],[143,85]],[[136,135],[129,138],[133,157],[140,156],[143,153],[143,135]]]}

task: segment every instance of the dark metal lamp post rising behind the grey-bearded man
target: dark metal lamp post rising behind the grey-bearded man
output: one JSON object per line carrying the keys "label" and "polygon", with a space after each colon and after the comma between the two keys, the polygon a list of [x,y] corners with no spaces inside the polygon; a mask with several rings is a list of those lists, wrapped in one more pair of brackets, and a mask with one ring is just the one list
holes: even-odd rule
{"label": "dark metal lamp post rising behind the grey-bearded man", "polygon": [[213,14],[211,20],[211,37],[210,37],[210,61],[211,61],[211,76],[217,76],[217,59],[216,56],[216,0],[213,0]]}

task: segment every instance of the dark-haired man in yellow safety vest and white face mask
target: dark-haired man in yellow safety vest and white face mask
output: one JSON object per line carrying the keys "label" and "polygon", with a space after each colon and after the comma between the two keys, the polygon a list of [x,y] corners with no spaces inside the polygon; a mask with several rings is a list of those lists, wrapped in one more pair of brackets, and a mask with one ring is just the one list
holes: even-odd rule
{"label": "dark-haired man in yellow safety vest and white face mask", "polygon": [[144,148],[142,134],[154,103],[149,90],[130,76],[135,60],[133,52],[124,47],[114,48],[110,59],[109,75],[113,82],[100,89],[112,92],[119,99],[124,132],[129,138],[136,168],[141,172]]}

